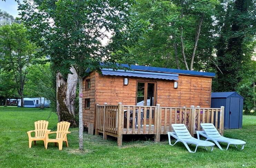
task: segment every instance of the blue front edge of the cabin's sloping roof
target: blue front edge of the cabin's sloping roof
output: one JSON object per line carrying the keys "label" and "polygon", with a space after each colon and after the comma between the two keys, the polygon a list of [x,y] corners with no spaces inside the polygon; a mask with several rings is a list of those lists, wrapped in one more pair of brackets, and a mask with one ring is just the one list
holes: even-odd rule
{"label": "blue front edge of the cabin's sloping roof", "polygon": [[[122,64],[122,66],[129,67],[128,64]],[[149,67],[149,66],[139,66],[139,65],[131,65],[130,68],[133,70],[139,70],[139,71],[167,72],[167,73],[177,73],[177,74],[185,74],[185,75],[215,77],[215,73],[213,72],[189,71],[189,70],[181,70],[181,69],[159,68],[159,67]]]}

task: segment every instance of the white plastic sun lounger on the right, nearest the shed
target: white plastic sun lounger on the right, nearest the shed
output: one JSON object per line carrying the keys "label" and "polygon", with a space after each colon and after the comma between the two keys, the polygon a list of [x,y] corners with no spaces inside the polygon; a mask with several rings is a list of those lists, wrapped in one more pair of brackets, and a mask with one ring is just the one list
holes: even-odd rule
{"label": "white plastic sun lounger on the right, nearest the shed", "polygon": [[[225,142],[228,143],[227,149],[229,145],[233,144],[237,148],[236,145],[242,145],[241,150],[244,149],[244,145],[246,144],[245,141],[238,140],[238,139],[231,139],[223,137],[219,134],[218,130],[215,128],[215,126],[212,123],[201,123],[201,127],[204,131],[197,131],[197,138],[200,139],[199,135],[207,138],[206,141],[212,140],[215,142],[215,144],[219,147],[219,149],[223,150],[221,146],[219,145],[219,142]],[[226,149],[226,150],[227,150]],[[237,148],[238,149],[238,148]]]}

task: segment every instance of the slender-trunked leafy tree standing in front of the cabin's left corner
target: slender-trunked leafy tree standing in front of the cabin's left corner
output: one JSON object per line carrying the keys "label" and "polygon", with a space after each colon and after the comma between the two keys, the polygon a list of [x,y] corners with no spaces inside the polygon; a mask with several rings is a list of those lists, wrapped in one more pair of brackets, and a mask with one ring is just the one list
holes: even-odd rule
{"label": "slender-trunked leafy tree standing in front of the cabin's left corner", "polygon": [[[59,74],[67,73],[72,78],[77,76],[82,95],[86,70],[100,72],[102,68],[121,68],[116,65],[117,60],[127,55],[127,47],[134,45],[145,30],[144,24],[130,19],[133,3],[132,0],[35,0],[33,3],[25,0],[19,9],[32,39],[57,67],[57,78],[62,80]],[[108,38],[109,33],[113,35],[112,40],[104,46],[101,40]],[[66,85],[61,82],[59,85],[57,81],[57,88],[68,86],[68,77]],[[65,91],[64,94],[57,92],[57,97],[65,97]],[[83,149],[82,132],[82,97],[79,96],[80,150]]]}

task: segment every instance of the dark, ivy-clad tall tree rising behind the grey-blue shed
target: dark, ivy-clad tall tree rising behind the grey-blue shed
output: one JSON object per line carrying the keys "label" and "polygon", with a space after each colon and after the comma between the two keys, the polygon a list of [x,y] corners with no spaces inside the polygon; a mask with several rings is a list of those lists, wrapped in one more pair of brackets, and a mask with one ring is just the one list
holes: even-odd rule
{"label": "dark, ivy-clad tall tree rising behind the grey-blue shed", "polygon": [[214,91],[235,91],[255,50],[255,0],[222,0],[216,12]]}

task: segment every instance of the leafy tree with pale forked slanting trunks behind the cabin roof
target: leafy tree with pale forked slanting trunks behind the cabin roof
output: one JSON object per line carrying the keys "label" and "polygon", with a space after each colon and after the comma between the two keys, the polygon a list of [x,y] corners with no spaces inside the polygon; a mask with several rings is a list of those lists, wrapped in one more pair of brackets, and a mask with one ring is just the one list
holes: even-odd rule
{"label": "leafy tree with pale forked slanting trunks behind the cabin roof", "polygon": [[150,21],[151,30],[142,45],[132,50],[136,61],[140,65],[204,69],[203,63],[213,51],[212,17],[218,1],[137,2],[134,11],[138,12],[138,18]]}

